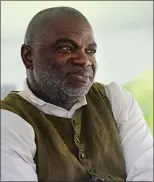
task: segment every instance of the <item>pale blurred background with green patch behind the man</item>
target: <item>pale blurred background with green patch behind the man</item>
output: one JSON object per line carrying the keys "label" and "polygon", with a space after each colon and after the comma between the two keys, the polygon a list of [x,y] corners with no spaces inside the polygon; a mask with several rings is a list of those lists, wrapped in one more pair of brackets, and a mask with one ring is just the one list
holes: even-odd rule
{"label": "pale blurred background with green patch behind the man", "polygon": [[27,25],[40,10],[70,6],[90,21],[98,44],[96,81],[115,81],[138,101],[153,132],[153,1],[2,1],[1,98],[21,90]]}

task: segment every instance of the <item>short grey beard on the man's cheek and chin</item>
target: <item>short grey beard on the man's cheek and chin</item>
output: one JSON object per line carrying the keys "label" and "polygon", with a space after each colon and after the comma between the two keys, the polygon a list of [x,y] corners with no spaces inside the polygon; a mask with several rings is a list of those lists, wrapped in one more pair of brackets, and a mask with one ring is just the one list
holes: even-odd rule
{"label": "short grey beard on the man's cheek and chin", "polygon": [[35,79],[49,103],[70,109],[77,101],[85,97],[92,85],[90,83],[87,87],[73,88],[64,79],[65,67],[56,69],[52,66],[45,68],[43,66],[40,65],[39,69],[35,70]]}

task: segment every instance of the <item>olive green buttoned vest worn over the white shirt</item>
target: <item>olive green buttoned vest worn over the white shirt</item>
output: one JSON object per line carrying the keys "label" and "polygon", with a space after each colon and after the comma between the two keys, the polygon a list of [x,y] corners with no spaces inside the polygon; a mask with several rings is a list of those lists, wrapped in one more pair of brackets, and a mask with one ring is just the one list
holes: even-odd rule
{"label": "olive green buttoned vest worn over the white shirt", "polygon": [[123,153],[111,105],[102,84],[94,83],[87,105],[72,119],[43,113],[11,92],[1,108],[16,113],[35,131],[34,161],[39,181],[82,181],[96,174],[108,181],[125,181]]}

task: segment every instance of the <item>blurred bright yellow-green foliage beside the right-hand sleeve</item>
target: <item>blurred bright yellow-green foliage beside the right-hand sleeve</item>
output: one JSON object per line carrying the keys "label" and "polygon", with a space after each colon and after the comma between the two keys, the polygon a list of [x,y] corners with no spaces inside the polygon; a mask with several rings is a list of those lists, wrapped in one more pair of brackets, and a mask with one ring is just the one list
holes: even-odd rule
{"label": "blurred bright yellow-green foliage beside the right-hand sleeve", "polygon": [[137,100],[153,133],[153,71],[144,71],[130,83],[125,84],[124,88]]}

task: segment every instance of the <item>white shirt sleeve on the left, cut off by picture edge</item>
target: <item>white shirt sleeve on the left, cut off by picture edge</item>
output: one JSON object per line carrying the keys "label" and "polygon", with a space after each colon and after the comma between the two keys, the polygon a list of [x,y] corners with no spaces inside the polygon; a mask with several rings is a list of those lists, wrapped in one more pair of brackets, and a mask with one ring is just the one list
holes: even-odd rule
{"label": "white shirt sleeve on the left, cut off by picture edge", "polygon": [[30,124],[1,110],[1,181],[38,181],[35,135]]}

